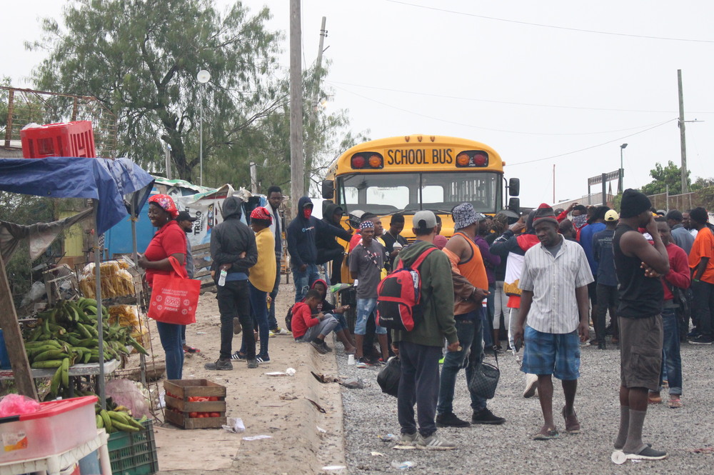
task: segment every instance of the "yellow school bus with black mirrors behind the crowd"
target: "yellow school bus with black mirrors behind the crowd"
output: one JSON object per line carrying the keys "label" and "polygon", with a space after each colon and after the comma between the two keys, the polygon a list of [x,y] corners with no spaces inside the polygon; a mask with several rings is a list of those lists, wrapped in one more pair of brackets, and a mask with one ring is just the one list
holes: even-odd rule
{"label": "yellow school bus with black mirrors behind the crowd", "polygon": [[[404,236],[413,240],[411,216],[428,209],[441,216],[441,234],[451,237],[451,209],[468,201],[483,214],[519,211],[520,182],[506,182],[503,166],[486,144],[448,136],[408,135],[368,141],[339,156],[322,182],[324,199],[349,214],[369,211],[382,217],[404,215]],[[508,200],[506,198],[513,196]],[[345,218],[346,219],[346,218]]]}

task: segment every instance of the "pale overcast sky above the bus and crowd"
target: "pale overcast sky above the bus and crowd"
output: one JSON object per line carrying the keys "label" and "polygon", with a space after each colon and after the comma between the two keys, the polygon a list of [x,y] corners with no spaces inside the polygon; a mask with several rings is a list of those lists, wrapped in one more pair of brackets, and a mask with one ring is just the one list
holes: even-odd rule
{"label": "pale overcast sky above the bus and crowd", "polygon": [[[227,6],[228,0],[218,0]],[[268,5],[284,31],[287,0]],[[4,2],[3,67],[13,85],[41,53],[39,16],[60,0]],[[328,111],[347,109],[372,139],[458,136],[492,146],[506,175],[521,178],[522,203],[573,199],[589,176],[615,171],[624,150],[625,187],[648,183],[655,162],[680,163],[677,69],[683,70],[688,167],[712,176],[714,2],[306,0],[303,58],[315,61],[327,17]],[[613,189],[617,184],[613,182]],[[596,190],[595,190],[596,191]]]}

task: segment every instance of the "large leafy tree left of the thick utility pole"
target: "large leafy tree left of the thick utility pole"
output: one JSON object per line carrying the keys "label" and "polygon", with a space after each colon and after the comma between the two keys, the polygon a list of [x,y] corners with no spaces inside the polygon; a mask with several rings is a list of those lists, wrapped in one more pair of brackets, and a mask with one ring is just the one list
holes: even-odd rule
{"label": "large leafy tree left of the thick utility pole", "polygon": [[[64,10],[66,30],[44,19],[44,36],[26,45],[51,51],[34,71],[36,86],[96,96],[119,118],[118,156],[151,165],[164,156],[164,141],[178,175],[193,181],[202,104],[204,173],[216,159],[235,166],[231,146],[286,104],[271,78],[279,35],[265,29],[267,8],[250,16],[240,1],[226,14],[213,5],[76,1]],[[201,69],[211,73],[206,84],[196,81]]]}

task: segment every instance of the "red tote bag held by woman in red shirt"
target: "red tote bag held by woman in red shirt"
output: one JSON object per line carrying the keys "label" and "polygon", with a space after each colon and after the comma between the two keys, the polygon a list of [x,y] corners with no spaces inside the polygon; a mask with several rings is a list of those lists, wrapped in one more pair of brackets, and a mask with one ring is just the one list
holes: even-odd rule
{"label": "red tote bag held by woman in red shirt", "polygon": [[154,275],[149,318],[166,324],[195,324],[201,281],[188,279],[186,269],[174,256],[169,256],[169,261],[174,274]]}

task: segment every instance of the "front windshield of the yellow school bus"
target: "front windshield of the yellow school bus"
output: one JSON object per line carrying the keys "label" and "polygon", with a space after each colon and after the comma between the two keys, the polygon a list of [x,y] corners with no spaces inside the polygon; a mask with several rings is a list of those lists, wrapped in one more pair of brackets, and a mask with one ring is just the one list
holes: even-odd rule
{"label": "front windshield of the yellow school bus", "polygon": [[345,211],[450,213],[463,202],[482,213],[501,211],[501,174],[486,171],[348,174],[338,178],[338,190]]}

